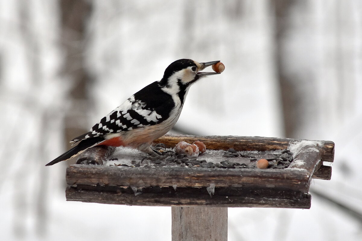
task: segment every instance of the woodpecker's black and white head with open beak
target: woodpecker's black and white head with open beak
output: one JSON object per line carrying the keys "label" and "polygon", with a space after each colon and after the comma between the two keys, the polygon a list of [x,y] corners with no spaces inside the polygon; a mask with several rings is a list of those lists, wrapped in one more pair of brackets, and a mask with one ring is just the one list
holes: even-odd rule
{"label": "woodpecker's black and white head with open beak", "polygon": [[160,81],[160,85],[165,92],[169,94],[178,94],[181,102],[184,102],[184,96],[187,94],[189,87],[199,79],[219,74],[216,72],[200,72],[208,66],[219,63],[220,61],[211,61],[198,63],[191,59],[179,59],[170,64]]}

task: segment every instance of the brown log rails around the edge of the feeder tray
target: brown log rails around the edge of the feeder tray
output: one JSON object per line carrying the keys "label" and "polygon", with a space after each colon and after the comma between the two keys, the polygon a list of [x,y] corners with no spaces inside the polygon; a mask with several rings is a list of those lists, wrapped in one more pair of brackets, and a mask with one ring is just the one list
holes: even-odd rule
{"label": "brown log rails around the edge of the feeder tray", "polygon": [[[165,135],[154,143],[174,147],[200,140],[211,150],[270,151],[300,140],[265,137]],[[310,208],[311,178],[330,179],[334,143],[302,146],[286,169],[209,169],[186,167],[108,167],[70,165],[68,201],[140,206]],[[303,165],[292,168],[296,160]],[[319,171],[322,170],[322,171]],[[313,175],[314,174],[314,175]]]}

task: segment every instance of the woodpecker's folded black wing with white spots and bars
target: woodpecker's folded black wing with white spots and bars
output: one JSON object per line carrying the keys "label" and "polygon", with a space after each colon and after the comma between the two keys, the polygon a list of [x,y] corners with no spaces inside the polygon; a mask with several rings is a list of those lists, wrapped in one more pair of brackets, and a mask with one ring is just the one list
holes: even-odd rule
{"label": "woodpecker's folded black wing with white spots and bars", "polygon": [[[163,91],[157,93],[152,90],[154,87],[152,85],[156,84],[157,82],[154,82],[132,95],[121,106],[103,117],[88,133],[72,139],[71,142],[156,125],[166,120],[173,102],[167,95],[160,96],[165,94]],[[163,99],[162,102],[153,101],[160,100],[160,98]]]}

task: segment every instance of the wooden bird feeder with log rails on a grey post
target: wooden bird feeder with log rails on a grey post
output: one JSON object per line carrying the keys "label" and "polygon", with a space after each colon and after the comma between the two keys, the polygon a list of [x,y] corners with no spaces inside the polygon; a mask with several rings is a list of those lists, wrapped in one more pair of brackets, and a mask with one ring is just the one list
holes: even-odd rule
{"label": "wooden bird feeder with log rails on a grey post", "polygon": [[[253,165],[248,156],[224,157],[230,148],[254,159],[269,159],[290,150],[292,161],[279,169],[202,168],[183,165],[139,167],[70,165],[67,201],[172,207],[172,240],[226,240],[227,207],[310,208],[312,178],[330,180],[334,143],[297,139],[165,135],[154,141],[173,148],[178,142],[202,141],[207,151],[198,159]],[[111,150],[97,147],[80,158],[107,159]],[[95,152],[94,152],[95,151]],[[98,156],[97,156],[98,155]],[[138,156],[137,156],[138,155]],[[137,154],[134,161],[140,162]],[[163,162],[168,162],[164,160]],[[172,162],[171,162],[172,164]],[[238,164],[238,165],[239,165]]]}

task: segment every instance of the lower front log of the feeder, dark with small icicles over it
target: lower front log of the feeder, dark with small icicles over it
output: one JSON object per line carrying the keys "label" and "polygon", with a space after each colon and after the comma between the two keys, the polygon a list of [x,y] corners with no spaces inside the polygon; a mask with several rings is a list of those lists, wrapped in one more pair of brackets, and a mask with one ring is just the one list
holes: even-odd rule
{"label": "lower front log of the feeder, dark with small icicles over it", "polygon": [[[155,188],[155,190],[103,191],[68,187],[67,201],[135,206],[210,206],[210,207],[278,207],[310,208],[311,195],[299,191],[274,189],[215,188],[210,195],[206,188]],[[153,188],[149,188],[153,189]]]}

